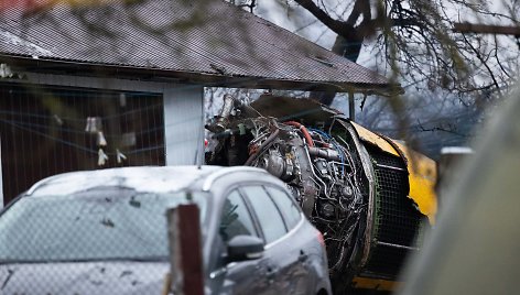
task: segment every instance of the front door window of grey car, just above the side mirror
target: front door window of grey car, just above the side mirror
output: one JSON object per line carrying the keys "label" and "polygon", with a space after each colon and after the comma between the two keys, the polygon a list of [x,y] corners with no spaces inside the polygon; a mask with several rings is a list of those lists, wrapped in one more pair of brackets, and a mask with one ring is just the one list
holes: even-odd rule
{"label": "front door window of grey car, just above the side mirror", "polygon": [[219,233],[226,242],[239,234],[258,237],[251,215],[238,190],[232,190],[224,201]]}

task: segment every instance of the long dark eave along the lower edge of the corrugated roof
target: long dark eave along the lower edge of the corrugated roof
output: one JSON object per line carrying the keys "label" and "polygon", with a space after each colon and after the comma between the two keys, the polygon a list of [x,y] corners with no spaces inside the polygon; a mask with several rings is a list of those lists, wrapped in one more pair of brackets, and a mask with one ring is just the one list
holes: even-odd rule
{"label": "long dark eave along the lower edge of the corrugated roof", "polygon": [[[106,76],[132,78],[140,80],[169,81],[182,84],[201,84],[205,87],[229,87],[252,89],[280,89],[303,91],[362,92],[367,95],[391,96],[402,92],[400,85],[392,84],[356,84],[343,81],[317,81],[273,79],[267,77],[229,76],[213,73],[185,72],[152,67],[126,65],[93,64],[51,58],[33,58],[22,55],[0,54],[0,62],[8,63],[19,70],[56,74],[66,70],[68,75]],[[63,73],[59,73],[63,75]]]}

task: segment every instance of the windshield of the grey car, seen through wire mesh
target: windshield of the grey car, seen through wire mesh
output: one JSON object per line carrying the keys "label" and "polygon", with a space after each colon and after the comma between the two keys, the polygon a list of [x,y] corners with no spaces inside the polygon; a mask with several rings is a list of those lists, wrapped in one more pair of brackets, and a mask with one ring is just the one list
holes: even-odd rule
{"label": "windshield of the grey car, seen through wire mesh", "polygon": [[[191,197],[203,222],[207,198]],[[117,187],[23,197],[0,216],[0,263],[164,260],[166,209],[187,203],[184,192]]]}

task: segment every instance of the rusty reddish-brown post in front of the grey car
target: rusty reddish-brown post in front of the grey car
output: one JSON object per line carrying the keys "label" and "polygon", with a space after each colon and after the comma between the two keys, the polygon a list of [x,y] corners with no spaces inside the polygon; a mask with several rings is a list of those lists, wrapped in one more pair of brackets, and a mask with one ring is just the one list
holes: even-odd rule
{"label": "rusty reddish-brown post in front of the grey car", "polygon": [[180,205],[167,210],[170,291],[178,295],[204,295],[204,273],[198,207]]}

